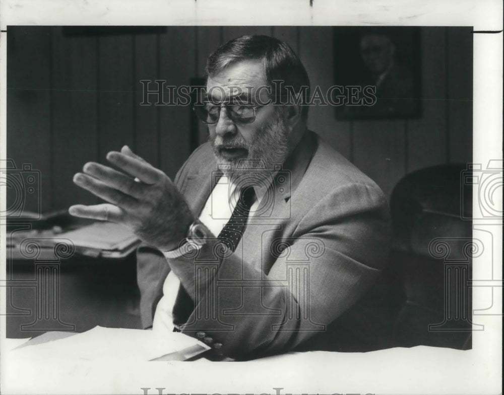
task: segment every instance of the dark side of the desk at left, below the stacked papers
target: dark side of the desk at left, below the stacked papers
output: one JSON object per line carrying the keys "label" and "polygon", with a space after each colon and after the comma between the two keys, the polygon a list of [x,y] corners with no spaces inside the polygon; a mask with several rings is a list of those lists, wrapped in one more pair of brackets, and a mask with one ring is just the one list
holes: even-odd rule
{"label": "dark side of the desk at left, below the stacked papers", "polygon": [[[8,259],[7,278],[8,338],[84,332],[97,325],[140,328],[135,254],[122,259],[74,254],[56,264]],[[48,286],[52,292],[41,290]]]}

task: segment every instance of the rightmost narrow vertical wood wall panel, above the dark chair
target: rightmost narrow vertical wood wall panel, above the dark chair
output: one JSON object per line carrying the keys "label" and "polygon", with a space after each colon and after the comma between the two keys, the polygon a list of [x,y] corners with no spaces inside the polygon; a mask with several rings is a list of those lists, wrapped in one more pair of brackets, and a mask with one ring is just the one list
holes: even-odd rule
{"label": "rightmost narrow vertical wood wall panel, above the dark chair", "polygon": [[449,162],[472,161],[473,35],[470,27],[448,28]]}

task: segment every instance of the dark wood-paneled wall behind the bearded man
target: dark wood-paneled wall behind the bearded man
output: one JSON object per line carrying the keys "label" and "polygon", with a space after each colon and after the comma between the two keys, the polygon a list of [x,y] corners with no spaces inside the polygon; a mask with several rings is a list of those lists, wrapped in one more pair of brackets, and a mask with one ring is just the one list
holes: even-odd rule
{"label": "dark wood-paneled wall behind the bearded man", "polygon": [[[190,154],[191,108],[140,106],[140,80],[189,84],[220,43],[256,33],[289,43],[312,86],[334,84],[332,27],[167,27],[93,36],[9,27],[8,158],[41,172],[43,211],[96,202],[72,176],[88,161],[105,163],[106,152],[124,144],[174,176]],[[421,28],[421,78],[418,119],[337,121],[333,107],[310,108],[309,127],[389,196],[408,172],[471,162],[471,29]],[[199,137],[206,138],[203,125]]]}

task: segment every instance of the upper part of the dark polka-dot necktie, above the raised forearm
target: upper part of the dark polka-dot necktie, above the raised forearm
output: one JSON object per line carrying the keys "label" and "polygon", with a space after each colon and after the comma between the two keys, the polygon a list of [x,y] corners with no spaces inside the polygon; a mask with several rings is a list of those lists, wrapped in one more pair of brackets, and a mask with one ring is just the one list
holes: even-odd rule
{"label": "upper part of the dark polka-dot necktie, above the raised forearm", "polygon": [[219,233],[219,240],[233,252],[236,250],[247,225],[248,214],[255,195],[254,187],[245,187],[240,191],[240,197],[231,218]]}

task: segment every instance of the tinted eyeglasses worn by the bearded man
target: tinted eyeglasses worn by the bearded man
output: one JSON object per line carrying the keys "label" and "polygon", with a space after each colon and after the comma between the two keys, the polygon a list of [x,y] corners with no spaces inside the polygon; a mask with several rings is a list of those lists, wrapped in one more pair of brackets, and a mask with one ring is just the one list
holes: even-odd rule
{"label": "tinted eyeglasses worn by the bearded man", "polygon": [[219,121],[220,109],[225,107],[227,116],[237,123],[252,123],[256,120],[257,109],[263,106],[251,104],[222,103],[219,105],[205,102],[193,107],[198,118],[205,124],[211,125]]}

